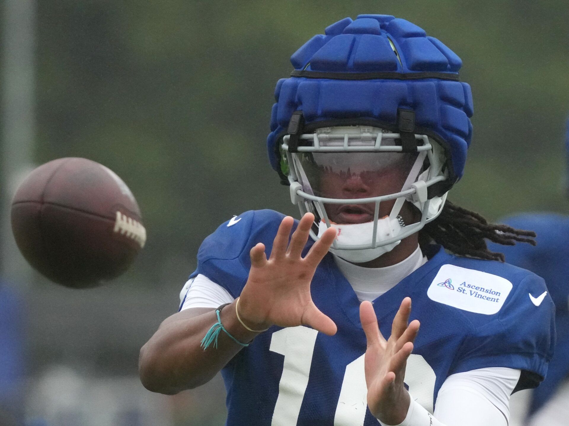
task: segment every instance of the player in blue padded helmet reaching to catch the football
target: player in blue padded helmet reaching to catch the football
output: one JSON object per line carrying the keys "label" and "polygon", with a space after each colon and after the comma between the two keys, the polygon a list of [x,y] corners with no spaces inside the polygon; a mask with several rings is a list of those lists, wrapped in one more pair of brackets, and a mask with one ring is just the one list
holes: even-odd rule
{"label": "player in blue padded helmet reaching to catch the football", "polygon": [[360,15],[291,62],[267,148],[302,218],[248,211],[204,240],[143,384],[174,394],[221,370],[228,425],[507,425],[510,394],[546,374],[554,306],[486,248],[533,233],[446,200],[472,136],[461,60]]}

